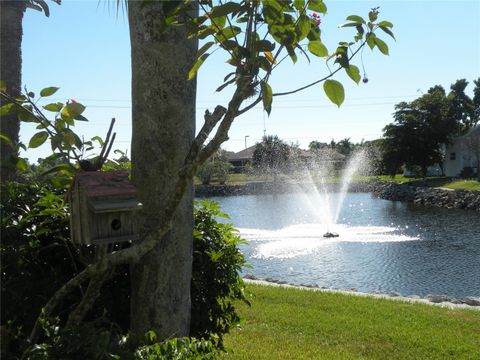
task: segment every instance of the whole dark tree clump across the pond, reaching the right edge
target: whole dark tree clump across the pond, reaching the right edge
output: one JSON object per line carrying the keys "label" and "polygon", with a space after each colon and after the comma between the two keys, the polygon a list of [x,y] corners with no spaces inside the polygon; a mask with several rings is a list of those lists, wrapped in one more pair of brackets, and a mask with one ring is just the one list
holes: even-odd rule
{"label": "whole dark tree clump across the pond, reaching the right edge", "polygon": [[[474,83],[477,87],[480,84]],[[442,86],[436,85],[416,100],[395,106],[395,121],[383,130],[383,163],[387,173],[394,174],[405,165],[409,170],[419,167],[425,176],[429,166],[443,163],[442,146],[478,122],[478,100],[465,94],[467,85],[465,79],[457,80],[448,95]]]}

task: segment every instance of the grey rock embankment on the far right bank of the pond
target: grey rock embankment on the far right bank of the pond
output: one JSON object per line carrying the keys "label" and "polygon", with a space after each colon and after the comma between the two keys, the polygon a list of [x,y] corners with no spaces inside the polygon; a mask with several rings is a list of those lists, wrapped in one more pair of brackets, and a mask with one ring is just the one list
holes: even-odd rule
{"label": "grey rock embankment on the far right bank of the pond", "polygon": [[415,205],[480,211],[480,191],[411,186],[395,182],[375,182],[371,192],[385,200],[408,201]]}

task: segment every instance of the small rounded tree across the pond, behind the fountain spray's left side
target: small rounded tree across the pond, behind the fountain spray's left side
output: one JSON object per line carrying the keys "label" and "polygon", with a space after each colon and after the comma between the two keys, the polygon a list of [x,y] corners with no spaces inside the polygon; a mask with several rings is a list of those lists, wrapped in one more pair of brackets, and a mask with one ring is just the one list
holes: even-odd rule
{"label": "small rounded tree across the pond, behind the fountain spray's left side", "polygon": [[260,173],[273,176],[276,182],[278,174],[289,168],[289,159],[290,146],[277,135],[266,135],[255,147],[253,167]]}

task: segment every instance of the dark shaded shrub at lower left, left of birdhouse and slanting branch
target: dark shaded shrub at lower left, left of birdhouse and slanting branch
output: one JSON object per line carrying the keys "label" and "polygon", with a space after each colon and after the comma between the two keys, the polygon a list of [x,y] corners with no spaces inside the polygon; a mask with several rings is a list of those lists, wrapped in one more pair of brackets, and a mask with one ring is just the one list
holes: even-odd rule
{"label": "dark shaded shrub at lower left, left of birdhouse and slanting branch", "polygon": [[62,191],[36,183],[1,186],[1,320],[28,331],[45,300],[82,265],[67,242]]}

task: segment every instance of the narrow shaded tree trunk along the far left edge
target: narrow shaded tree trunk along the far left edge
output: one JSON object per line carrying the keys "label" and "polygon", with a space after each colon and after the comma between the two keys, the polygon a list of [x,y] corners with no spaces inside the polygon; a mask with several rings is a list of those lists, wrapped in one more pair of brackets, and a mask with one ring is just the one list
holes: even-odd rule
{"label": "narrow shaded tree trunk along the far left edge", "polygon": [[[25,1],[1,0],[0,24],[1,46],[0,51],[0,80],[7,85],[7,92],[13,97],[20,95],[22,86],[22,20],[25,11]],[[4,104],[0,97],[0,106]],[[0,132],[7,136],[14,144],[18,143],[20,123],[17,115],[2,116],[0,118]],[[1,176],[3,180],[15,176],[17,151],[0,141]]]}

